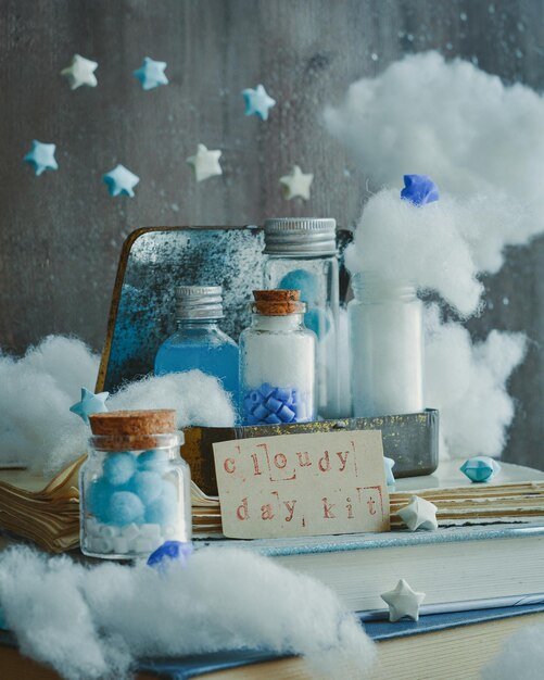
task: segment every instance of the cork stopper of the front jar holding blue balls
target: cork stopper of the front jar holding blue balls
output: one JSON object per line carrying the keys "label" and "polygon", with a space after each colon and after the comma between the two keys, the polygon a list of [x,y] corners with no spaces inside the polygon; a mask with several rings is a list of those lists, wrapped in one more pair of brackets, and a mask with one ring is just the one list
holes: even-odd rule
{"label": "cork stopper of the front jar holding blue balls", "polygon": [[93,444],[103,451],[152,449],[160,445],[161,435],[176,431],[176,412],[166,408],[94,413],[89,421]]}

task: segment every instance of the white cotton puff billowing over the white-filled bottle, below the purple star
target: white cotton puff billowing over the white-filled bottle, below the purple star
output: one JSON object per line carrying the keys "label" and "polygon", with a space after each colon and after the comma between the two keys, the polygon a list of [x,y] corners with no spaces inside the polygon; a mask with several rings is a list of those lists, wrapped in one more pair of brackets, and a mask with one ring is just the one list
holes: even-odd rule
{"label": "white cotton puff billowing over the white-filled bottle, below the purple star", "polygon": [[483,286],[463,234],[469,216],[467,205],[447,197],[416,206],[397,190],[382,190],[365,205],[346,266],[435,290],[461,315],[473,314]]}

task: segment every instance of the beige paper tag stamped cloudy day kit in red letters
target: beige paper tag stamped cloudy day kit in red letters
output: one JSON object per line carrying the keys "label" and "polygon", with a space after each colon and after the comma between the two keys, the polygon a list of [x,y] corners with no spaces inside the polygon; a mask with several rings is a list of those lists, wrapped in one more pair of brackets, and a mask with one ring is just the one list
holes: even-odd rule
{"label": "beige paper tag stamped cloudy day kit in red letters", "polygon": [[279,435],[213,446],[227,537],[390,528],[379,430]]}

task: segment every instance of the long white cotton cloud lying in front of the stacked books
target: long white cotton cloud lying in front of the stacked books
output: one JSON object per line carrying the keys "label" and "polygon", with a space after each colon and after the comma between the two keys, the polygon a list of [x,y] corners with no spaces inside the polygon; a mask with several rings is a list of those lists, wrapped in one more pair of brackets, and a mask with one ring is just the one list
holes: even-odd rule
{"label": "long white cotton cloud lying in front of the stacked books", "polygon": [[316,679],[347,668],[363,680],[375,659],[332,591],[243,550],[203,547],[157,571],[14,547],[0,561],[0,604],[23,654],[66,680],[125,680],[138,658],[243,647],[302,655]]}

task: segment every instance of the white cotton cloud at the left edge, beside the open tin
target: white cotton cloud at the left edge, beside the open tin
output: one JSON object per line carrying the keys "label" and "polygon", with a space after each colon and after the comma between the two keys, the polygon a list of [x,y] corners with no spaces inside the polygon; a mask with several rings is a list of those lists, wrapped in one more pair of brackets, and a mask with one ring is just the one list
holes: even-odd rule
{"label": "white cotton cloud at the left edge, beside the open tin", "polygon": [[85,452],[88,428],[69,407],[81,387],[94,387],[98,365],[81,341],[62,336],[20,360],[0,355],[0,464],[43,470],[53,458],[62,465]]}

